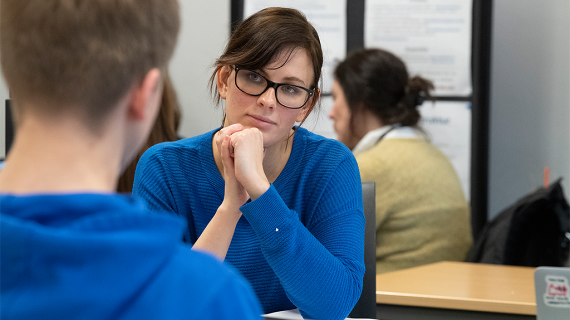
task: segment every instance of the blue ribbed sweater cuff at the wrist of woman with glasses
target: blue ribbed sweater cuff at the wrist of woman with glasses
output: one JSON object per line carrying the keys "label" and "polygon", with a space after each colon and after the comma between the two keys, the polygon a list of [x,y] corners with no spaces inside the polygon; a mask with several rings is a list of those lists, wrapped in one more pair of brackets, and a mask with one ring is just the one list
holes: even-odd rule
{"label": "blue ribbed sweater cuff at the wrist of woman with glasses", "polygon": [[273,184],[258,199],[242,205],[239,210],[258,235],[278,230],[291,212]]}

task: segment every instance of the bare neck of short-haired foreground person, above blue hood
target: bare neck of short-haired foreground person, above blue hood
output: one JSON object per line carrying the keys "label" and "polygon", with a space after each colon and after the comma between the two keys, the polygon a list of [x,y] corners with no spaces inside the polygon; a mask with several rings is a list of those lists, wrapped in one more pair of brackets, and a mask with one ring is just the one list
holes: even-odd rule
{"label": "bare neck of short-haired foreground person, above blue hood", "polygon": [[[112,192],[121,155],[72,117],[53,125],[27,116],[0,170],[0,192]],[[51,125],[50,125],[51,124]],[[111,140],[112,141],[112,140]]]}

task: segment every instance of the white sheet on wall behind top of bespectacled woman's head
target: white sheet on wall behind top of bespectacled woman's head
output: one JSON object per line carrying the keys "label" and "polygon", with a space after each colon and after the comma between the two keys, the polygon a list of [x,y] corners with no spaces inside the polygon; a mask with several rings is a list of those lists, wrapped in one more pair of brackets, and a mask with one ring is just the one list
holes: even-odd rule
{"label": "white sheet on wall behind top of bespectacled woman's head", "polygon": [[323,91],[330,92],[332,72],[347,52],[347,0],[245,0],[244,18],[266,7],[289,7],[304,13],[319,33],[323,48]]}

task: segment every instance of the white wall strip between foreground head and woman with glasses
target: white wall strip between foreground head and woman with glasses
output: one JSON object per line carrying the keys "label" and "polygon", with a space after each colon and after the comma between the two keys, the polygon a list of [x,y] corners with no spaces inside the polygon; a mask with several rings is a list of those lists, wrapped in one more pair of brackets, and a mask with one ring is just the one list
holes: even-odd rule
{"label": "white wall strip between foreground head and woman with glasses", "polygon": [[170,76],[182,108],[178,131],[190,137],[221,125],[207,87],[210,66],[222,54],[230,34],[230,0],[179,0],[182,30],[170,64]]}

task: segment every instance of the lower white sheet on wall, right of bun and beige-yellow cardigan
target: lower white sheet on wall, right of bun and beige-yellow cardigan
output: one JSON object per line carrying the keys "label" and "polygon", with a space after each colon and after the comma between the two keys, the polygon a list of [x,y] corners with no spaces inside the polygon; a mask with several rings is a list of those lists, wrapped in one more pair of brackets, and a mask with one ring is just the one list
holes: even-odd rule
{"label": "lower white sheet on wall, right of bun and beige-yellow cardigan", "polygon": [[426,101],[420,127],[453,164],[467,200],[471,192],[471,102]]}

